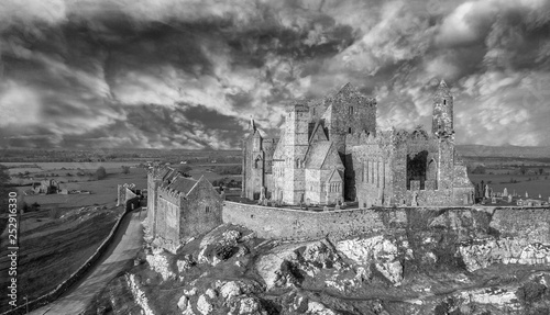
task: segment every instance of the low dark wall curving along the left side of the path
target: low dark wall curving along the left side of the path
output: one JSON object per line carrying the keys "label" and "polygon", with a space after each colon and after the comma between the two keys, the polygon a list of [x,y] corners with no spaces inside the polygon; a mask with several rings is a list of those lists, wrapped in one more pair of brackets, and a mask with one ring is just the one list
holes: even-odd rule
{"label": "low dark wall curving along the left side of the path", "polygon": [[79,280],[81,280],[82,275],[86,274],[86,272],[88,272],[90,270],[90,267],[94,266],[99,260],[99,258],[106,252],[109,245],[111,245],[111,243],[113,241],[113,237],[120,227],[120,223],[129,214],[131,214],[131,213],[124,211],[124,213],[114,223],[114,226],[111,228],[111,232],[109,233],[107,238],[103,240],[103,243],[101,243],[101,245],[99,245],[98,249],[96,249],[94,255],[90,258],[88,258],[88,260],[80,268],[78,268],[78,270],[73,272],[73,274],[70,274],[70,277],[67,280],[59,283],[59,285],[57,285],[57,288],[52,290],[50,293],[46,293],[40,297],[36,297],[33,301],[29,301],[29,305],[21,304],[15,308],[12,308],[10,311],[2,313],[1,315],[4,315],[4,314],[26,314],[26,306],[29,306],[29,311],[31,312],[33,310],[45,306],[48,303],[52,303],[55,300],[59,299],[63,295],[63,293],[67,292],[67,290],[73,284],[75,284]]}

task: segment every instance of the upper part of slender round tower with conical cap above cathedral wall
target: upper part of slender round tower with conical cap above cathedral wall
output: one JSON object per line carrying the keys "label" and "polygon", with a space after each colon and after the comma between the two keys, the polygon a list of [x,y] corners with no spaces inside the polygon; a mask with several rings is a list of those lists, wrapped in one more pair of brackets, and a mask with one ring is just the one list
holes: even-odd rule
{"label": "upper part of slender round tower with conical cap above cathedral wall", "polygon": [[431,131],[435,135],[443,137],[454,134],[453,97],[444,80],[441,80],[433,95]]}

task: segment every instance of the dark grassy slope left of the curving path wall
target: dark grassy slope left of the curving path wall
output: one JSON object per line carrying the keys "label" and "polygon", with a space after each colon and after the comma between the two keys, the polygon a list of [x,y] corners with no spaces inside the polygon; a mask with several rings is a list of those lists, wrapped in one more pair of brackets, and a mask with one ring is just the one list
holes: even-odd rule
{"label": "dark grassy slope left of the curving path wall", "polygon": [[[122,209],[80,207],[22,215],[18,265],[19,304],[22,297],[38,297],[65,281],[96,251],[109,235]],[[1,235],[7,239],[6,233]],[[8,274],[9,261],[2,246],[0,274]],[[7,277],[0,278],[7,286]],[[2,290],[3,292],[3,290]],[[0,312],[7,311],[7,295],[0,294]]]}

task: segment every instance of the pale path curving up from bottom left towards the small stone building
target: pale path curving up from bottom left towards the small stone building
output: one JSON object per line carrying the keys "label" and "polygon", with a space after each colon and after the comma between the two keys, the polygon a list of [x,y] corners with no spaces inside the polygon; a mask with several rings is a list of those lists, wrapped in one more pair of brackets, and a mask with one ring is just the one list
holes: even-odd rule
{"label": "pale path curving up from bottom left towards the small stone building", "polygon": [[80,282],[73,285],[57,301],[52,302],[30,314],[43,315],[75,315],[84,312],[109,281],[111,281],[128,263],[131,263],[143,243],[143,229],[140,220],[140,210],[127,215],[109,246],[105,256]]}

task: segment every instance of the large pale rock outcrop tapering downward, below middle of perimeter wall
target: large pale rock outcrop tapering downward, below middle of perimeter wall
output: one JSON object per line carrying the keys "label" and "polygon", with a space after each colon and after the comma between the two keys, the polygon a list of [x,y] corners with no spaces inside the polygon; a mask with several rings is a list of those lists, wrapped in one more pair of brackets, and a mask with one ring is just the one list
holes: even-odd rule
{"label": "large pale rock outcrop tapering downward, below middle of perimeter wall", "polygon": [[[338,251],[345,255],[356,265],[369,267],[374,263],[387,280],[394,285],[399,285],[403,281],[403,265],[399,260],[399,252],[395,240],[384,236],[371,238],[354,238],[338,241]],[[363,269],[364,270],[364,269]]]}

